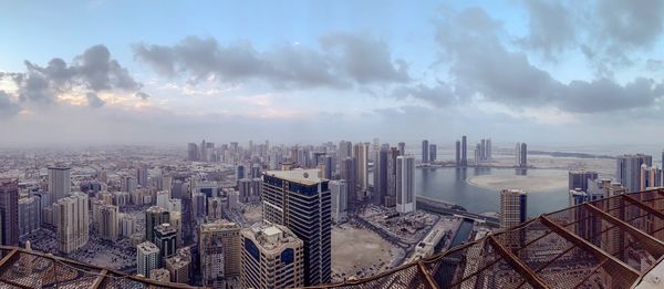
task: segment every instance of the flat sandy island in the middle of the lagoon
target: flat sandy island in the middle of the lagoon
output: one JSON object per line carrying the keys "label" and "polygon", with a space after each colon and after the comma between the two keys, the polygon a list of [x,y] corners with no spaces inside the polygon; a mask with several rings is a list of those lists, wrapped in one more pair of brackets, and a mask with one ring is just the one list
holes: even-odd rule
{"label": "flat sandy island in the middle of the lagoon", "polygon": [[568,186],[568,178],[564,176],[507,176],[507,175],[481,175],[468,178],[468,183],[491,189],[500,190],[505,188],[526,189],[527,192],[541,192],[564,189]]}

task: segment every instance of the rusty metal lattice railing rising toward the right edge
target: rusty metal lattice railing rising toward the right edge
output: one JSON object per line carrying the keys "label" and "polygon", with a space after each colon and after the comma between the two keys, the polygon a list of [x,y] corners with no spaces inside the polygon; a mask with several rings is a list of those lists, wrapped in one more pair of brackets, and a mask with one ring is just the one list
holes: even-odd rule
{"label": "rusty metal lattice railing rising toward the right edge", "polygon": [[664,189],[543,214],[377,276],[321,288],[630,288],[664,256]]}

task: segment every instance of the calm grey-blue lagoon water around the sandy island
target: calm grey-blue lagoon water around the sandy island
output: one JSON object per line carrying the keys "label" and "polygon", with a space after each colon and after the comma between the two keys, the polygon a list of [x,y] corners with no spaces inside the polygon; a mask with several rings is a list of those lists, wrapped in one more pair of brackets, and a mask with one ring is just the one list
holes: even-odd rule
{"label": "calm grey-blue lagoon water around the sandy island", "polygon": [[[417,168],[415,192],[417,195],[450,202],[471,213],[498,211],[500,192],[477,187],[466,182],[478,175],[517,175],[513,168]],[[562,169],[528,169],[531,176],[567,176]],[[539,216],[568,206],[567,186],[554,190],[528,192],[528,215]]]}

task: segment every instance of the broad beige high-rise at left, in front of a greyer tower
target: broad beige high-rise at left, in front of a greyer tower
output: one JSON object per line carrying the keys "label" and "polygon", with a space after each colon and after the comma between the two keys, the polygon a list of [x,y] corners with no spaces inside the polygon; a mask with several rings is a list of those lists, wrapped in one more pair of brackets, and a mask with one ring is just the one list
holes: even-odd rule
{"label": "broad beige high-rise at left, in front of a greyer tower", "polygon": [[90,238],[87,195],[72,193],[53,204],[53,223],[58,228],[58,248],[71,254],[85,246]]}

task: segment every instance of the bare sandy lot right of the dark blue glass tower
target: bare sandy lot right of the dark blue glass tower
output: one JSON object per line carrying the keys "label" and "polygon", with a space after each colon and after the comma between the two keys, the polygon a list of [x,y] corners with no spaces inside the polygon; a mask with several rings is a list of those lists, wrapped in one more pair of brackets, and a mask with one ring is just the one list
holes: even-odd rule
{"label": "bare sandy lot right of the dark blue glass tower", "polygon": [[332,227],[332,275],[335,280],[385,270],[401,249],[375,233],[350,224]]}

